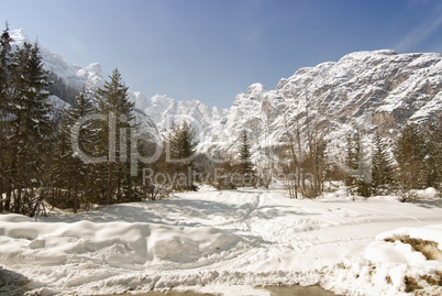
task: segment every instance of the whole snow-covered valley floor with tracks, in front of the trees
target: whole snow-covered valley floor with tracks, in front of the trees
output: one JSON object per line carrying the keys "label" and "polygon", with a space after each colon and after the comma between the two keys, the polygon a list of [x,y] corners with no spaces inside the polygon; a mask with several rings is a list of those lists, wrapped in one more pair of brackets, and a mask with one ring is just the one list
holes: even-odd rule
{"label": "whole snow-covered valley floor with tracks, in front of the trees", "polygon": [[207,188],[77,215],[0,215],[0,294],[269,295],[253,287],[319,284],[350,295],[442,295],[442,256],[429,260],[405,239],[432,241],[442,254],[439,200]]}

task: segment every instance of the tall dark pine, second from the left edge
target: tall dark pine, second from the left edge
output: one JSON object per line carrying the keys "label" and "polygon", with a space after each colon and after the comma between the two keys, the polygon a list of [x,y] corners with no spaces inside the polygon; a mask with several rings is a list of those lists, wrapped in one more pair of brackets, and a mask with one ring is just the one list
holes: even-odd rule
{"label": "tall dark pine, second from the left edge", "polygon": [[11,128],[8,149],[11,152],[8,167],[15,212],[34,215],[41,200],[35,199],[34,188],[43,184],[44,154],[49,152],[53,124],[49,117],[47,88],[48,73],[43,69],[36,43],[24,43],[12,58],[11,108],[8,125]]}

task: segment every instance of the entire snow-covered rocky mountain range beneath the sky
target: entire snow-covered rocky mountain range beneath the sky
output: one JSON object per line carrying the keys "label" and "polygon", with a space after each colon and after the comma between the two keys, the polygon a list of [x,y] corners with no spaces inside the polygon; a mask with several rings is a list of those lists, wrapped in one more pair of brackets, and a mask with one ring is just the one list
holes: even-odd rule
{"label": "entire snow-covered rocky mountain range beneath the sky", "polygon": [[[26,37],[12,32],[16,44]],[[81,67],[66,63],[60,55],[42,47],[45,67],[69,86],[93,89],[104,79],[98,63]],[[253,84],[236,96],[230,109],[209,108],[198,100],[176,101],[165,95],[147,98],[130,91],[139,113],[163,133],[169,124],[190,121],[196,128],[200,152],[235,154],[243,130],[254,158],[287,141],[285,132],[327,127],[329,140],[341,141],[350,129],[375,129],[391,138],[406,121],[426,123],[442,111],[442,55],[398,54],[383,50],[356,52],[338,62],[301,68],[283,78],[276,89]]]}

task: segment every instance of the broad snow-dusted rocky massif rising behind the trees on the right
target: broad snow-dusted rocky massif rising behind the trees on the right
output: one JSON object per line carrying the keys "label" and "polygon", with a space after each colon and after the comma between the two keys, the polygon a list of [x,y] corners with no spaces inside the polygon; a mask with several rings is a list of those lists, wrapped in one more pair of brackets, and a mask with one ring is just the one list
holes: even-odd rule
{"label": "broad snow-dusted rocky massif rising behind the trees on the right", "polygon": [[358,52],[300,69],[281,79],[277,91],[284,99],[308,100],[340,122],[372,112],[374,124],[402,124],[427,121],[441,111],[441,54]]}

